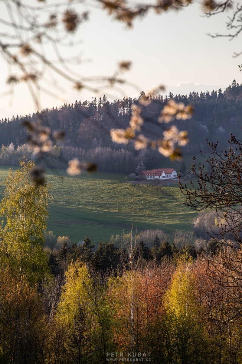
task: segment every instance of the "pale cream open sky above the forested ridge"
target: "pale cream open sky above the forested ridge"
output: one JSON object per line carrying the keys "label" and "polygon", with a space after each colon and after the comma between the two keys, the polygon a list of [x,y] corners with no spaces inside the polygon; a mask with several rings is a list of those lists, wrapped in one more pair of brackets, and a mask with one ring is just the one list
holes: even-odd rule
{"label": "pale cream open sky above the forested ridge", "polygon": [[[72,55],[81,52],[83,64],[73,66],[73,70],[85,76],[111,75],[120,60],[131,60],[131,70],[123,76],[136,86],[105,88],[96,94],[74,91],[71,84],[60,78],[58,98],[41,95],[41,108],[59,107],[63,101],[83,102],[103,94],[109,100],[137,97],[140,91],[146,92],[159,84],[166,85],[165,93],[189,94],[224,90],[233,79],[242,82],[242,72],[238,69],[242,56],[233,58],[234,52],[242,50],[240,36],[229,41],[225,37],[213,39],[207,35],[226,34],[228,13],[202,17],[200,6],[193,4],[179,12],[160,15],[150,12],[143,19],[135,20],[132,29],[126,29],[123,23],[113,20],[101,9],[89,7],[89,11],[89,21],[81,24],[75,35],[81,41],[79,46],[63,50],[64,54]],[[0,60],[0,70],[1,92],[5,92],[8,86],[4,60]],[[23,83],[15,87],[14,97],[0,98],[0,119],[34,111],[36,108]]]}

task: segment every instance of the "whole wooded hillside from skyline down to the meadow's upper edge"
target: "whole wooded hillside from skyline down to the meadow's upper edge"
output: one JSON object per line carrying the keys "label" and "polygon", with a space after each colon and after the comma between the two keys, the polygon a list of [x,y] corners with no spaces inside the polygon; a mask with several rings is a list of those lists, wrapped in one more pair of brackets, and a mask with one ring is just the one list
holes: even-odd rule
{"label": "whole wooded hillside from skyline down to the meadow's upper edge", "polygon": [[[200,150],[209,153],[206,139],[210,142],[219,140],[219,147],[226,149],[231,132],[241,139],[242,84],[234,80],[223,92],[213,90],[211,94],[201,92],[200,95],[197,92],[190,92],[189,95],[173,95],[169,92],[168,96],[158,95],[149,99],[150,103],[146,106],[140,104],[140,98],[124,98],[110,103],[104,95],[99,100],[86,100],[83,103],[76,100],[73,104],[43,109],[33,115],[1,119],[0,145],[7,147],[13,143],[12,148],[16,153],[17,146],[26,143],[27,130],[22,128],[23,120],[41,120],[51,130],[65,132],[60,150],[56,148],[49,153],[51,163],[56,167],[62,168],[68,158],[78,157],[80,160],[97,161],[99,170],[103,172],[131,173],[140,161],[154,166],[163,162],[164,157],[157,150],[135,150],[132,142],[128,145],[112,142],[110,128],[126,128],[132,115],[131,107],[138,105],[144,121],[142,132],[146,137],[155,136],[156,139],[162,130],[156,122],[169,100],[194,107],[192,119],[173,121],[179,130],[188,131],[189,143],[181,147],[183,155],[197,154]],[[1,150],[1,164],[17,165],[19,158],[15,155],[9,157],[13,150]],[[46,166],[51,167],[50,161],[46,161]]]}

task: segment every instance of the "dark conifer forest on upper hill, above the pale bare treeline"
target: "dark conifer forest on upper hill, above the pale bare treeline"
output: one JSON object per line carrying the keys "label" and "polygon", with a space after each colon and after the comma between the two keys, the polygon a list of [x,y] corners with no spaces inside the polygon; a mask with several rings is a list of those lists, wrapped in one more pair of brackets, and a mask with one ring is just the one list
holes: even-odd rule
{"label": "dark conifer forest on upper hill, above the pale bare treeline", "polygon": [[[143,94],[143,92],[141,92]],[[165,97],[159,95],[153,97],[148,106],[142,107],[142,115],[145,118],[157,120],[160,111],[169,99],[176,102],[183,102],[194,105],[194,116],[191,120],[176,121],[177,127],[187,130],[190,143],[184,147],[183,153],[197,153],[200,149],[206,151],[206,138],[210,141],[219,140],[221,147],[229,138],[230,133],[241,139],[241,115],[242,115],[242,84],[235,80],[225,89],[225,91],[191,92],[187,95],[173,95],[169,92]],[[24,143],[25,131],[21,127],[23,119],[41,119],[45,125],[55,130],[65,130],[65,145],[90,149],[92,147],[110,146],[120,149],[120,146],[111,142],[108,133],[105,132],[111,127],[117,127],[117,123],[124,127],[128,125],[131,116],[131,105],[139,104],[139,99],[123,98],[108,102],[106,96],[99,100],[93,99],[81,103],[65,104],[60,108],[43,109],[36,114],[17,116],[12,119],[2,119],[0,123],[0,143],[1,145],[15,146]],[[97,127],[97,122],[103,129]],[[114,123],[115,122],[115,123]],[[146,127],[156,132],[154,124],[147,123]],[[122,146],[124,149],[132,149],[132,146]]]}

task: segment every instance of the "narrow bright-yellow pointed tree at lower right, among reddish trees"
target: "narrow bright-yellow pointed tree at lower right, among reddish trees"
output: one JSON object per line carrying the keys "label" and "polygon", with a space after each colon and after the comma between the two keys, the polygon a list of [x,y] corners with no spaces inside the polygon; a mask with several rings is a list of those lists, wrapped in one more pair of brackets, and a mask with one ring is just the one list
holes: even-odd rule
{"label": "narrow bright-yellow pointed tree at lower right, among reddish trees", "polygon": [[185,250],[165,297],[166,327],[170,331],[169,356],[173,357],[173,363],[207,363],[208,359],[205,318],[195,296],[192,262]]}

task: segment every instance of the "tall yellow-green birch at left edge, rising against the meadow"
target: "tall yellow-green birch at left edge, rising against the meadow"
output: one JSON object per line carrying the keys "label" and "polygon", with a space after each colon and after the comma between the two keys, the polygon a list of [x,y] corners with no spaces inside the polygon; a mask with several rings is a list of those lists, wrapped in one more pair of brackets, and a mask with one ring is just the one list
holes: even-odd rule
{"label": "tall yellow-green birch at left edge, rising against the meadow", "polygon": [[[48,273],[43,232],[46,229],[50,184],[37,186],[31,173],[33,161],[20,161],[21,169],[9,170],[4,198],[0,203],[0,246],[2,258],[28,277],[31,284]],[[3,260],[2,260],[3,261]]]}

